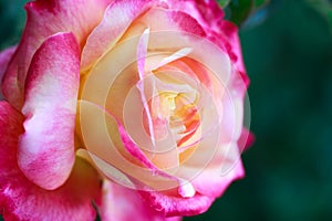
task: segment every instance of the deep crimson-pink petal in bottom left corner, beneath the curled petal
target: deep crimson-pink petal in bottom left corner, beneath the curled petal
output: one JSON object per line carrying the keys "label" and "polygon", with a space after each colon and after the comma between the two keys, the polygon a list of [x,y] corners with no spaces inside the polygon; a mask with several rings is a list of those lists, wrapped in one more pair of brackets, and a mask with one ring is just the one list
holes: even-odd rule
{"label": "deep crimson-pink petal in bottom left corner, beneath the curled petal", "polygon": [[77,159],[70,179],[48,191],[30,182],[17,165],[23,116],[0,102],[0,211],[4,220],[94,220],[92,200],[100,200],[96,171]]}

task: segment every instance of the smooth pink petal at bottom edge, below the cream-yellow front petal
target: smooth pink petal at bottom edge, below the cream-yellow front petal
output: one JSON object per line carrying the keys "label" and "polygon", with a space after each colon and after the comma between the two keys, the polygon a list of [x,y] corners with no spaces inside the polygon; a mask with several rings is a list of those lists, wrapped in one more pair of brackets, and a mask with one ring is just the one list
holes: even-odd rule
{"label": "smooth pink petal at bottom edge, below the cream-yellow front petal", "polygon": [[102,220],[132,221],[177,221],[179,217],[165,218],[162,212],[153,210],[137,191],[104,182],[103,201],[101,207]]}

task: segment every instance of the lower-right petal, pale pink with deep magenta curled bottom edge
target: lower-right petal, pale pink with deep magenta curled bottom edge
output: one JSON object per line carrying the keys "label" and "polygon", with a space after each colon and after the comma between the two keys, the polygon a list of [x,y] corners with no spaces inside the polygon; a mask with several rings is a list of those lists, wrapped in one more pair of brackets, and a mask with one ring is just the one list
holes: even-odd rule
{"label": "lower-right petal, pale pink with deep magenta curled bottom edge", "polygon": [[[139,191],[139,193],[154,209],[163,212],[167,217],[195,215],[205,212],[212,201],[224,193],[226,188],[235,179],[243,177],[243,168],[239,160],[237,148],[234,146],[230,147],[228,151],[226,151],[228,152],[228,157],[225,156],[225,149],[220,150],[221,151],[217,152],[205,168],[201,168],[201,173],[198,173],[195,178],[191,177],[190,182],[193,182],[197,190],[194,197],[181,198],[176,193],[170,194],[169,192],[165,193],[163,191],[152,190]],[[235,157],[235,164],[230,157],[231,155]],[[186,177],[197,171],[183,170],[183,177]],[[181,173],[178,173],[178,176],[180,177]]]}

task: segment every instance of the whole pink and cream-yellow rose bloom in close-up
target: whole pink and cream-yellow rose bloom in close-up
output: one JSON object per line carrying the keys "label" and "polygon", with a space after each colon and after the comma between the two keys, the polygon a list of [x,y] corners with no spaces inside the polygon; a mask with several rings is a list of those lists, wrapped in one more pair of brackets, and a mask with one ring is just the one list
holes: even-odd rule
{"label": "whole pink and cream-yellow rose bloom in close-up", "polygon": [[180,220],[245,172],[249,80],[207,0],[37,0],[0,54],[4,220]]}

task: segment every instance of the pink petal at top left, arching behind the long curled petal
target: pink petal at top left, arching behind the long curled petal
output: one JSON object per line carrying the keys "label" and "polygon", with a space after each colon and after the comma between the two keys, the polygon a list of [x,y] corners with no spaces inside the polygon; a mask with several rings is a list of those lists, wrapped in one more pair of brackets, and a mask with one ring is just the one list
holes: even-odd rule
{"label": "pink petal at top left, arching behind the long curled petal", "polygon": [[37,0],[25,6],[28,21],[18,52],[3,81],[3,95],[17,108],[23,104],[23,87],[31,59],[50,35],[73,32],[81,45],[101,21],[112,0]]}

